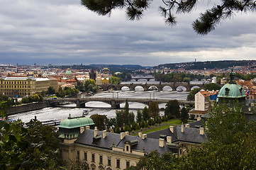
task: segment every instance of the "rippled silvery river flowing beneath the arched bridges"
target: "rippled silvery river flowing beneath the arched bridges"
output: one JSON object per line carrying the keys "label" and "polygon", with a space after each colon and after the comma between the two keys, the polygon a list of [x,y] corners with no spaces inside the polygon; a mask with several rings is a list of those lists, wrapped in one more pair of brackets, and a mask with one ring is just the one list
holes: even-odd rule
{"label": "rippled silvery river flowing beneath the arched bridges", "polygon": [[[94,96],[82,96],[82,97],[93,97],[93,98],[155,98],[155,99],[169,99],[169,100],[186,100],[189,92],[182,91],[101,91]],[[10,115],[10,118],[21,119],[24,123],[27,123],[30,119],[36,118],[38,120],[64,120],[69,114],[74,116],[82,115],[84,108],[76,108],[75,104],[67,104],[67,108],[43,108],[37,111],[28,111],[24,113],[18,113]],[[114,118],[116,116],[116,109],[111,109],[111,106],[102,102],[88,102],[86,103],[90,115],[101,114],[107,115],[108,118]],[[125,103],[121,103],[121,108],[124,108]],[[94,107],[94,108],[93,108]],[[143,109],[145,105],[142,103],[129,102],[130,111],[136,115],[138,108]],[[165,108],[165,103],[160,104],[160,108]],[[163,114],[163,111],[160,112]]]}

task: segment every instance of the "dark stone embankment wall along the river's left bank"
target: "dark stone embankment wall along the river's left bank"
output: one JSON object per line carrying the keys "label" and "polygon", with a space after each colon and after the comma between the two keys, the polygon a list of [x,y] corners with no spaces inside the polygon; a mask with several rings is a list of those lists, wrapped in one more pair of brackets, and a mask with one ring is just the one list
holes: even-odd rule
{"label": "dark stone embankment wall along the river's left bank", "polygon": [[7,115],[13,115],[16,113],[22,113],[26,111],[35,111],[41,108],[49,107],[50,104],[48,102],[40,102],[40,103],[30,103],[26,105],[13,106],[11,108],[7,108]]}

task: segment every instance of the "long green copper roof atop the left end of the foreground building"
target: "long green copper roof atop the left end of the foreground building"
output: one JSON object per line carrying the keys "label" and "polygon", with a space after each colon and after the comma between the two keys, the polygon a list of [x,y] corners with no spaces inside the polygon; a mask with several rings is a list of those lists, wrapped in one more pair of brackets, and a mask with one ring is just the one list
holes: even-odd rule
{"label": "long green copper roof atop the left end of the foreground building", "polygon": [[91,118],[84,116],[71,118],[70,116],[60,122],[59,128],[79,128],[82,126],[94,125],[94,121]]}

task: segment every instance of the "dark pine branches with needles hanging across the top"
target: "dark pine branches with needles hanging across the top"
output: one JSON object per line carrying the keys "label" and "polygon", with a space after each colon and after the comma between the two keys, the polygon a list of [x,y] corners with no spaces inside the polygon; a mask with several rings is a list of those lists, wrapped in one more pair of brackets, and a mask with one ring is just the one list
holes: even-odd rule
{"label": "dark pine branches with needles hanging across the top", "polygon": [[[152,0],[81,0],[83,6],[102,16],[110,14],[115,8],[126,8],[128,20],[142,18],[144,11],[150,7],[151,2]],[[196,4],[198,1],[162,1],[162,6],[158,10],[165,18],[165,23],[174,26],[177,24],[174,13],[190,13],[196,8]],[[235,12],[246,13],[247,11],[255,11],[255,1],[221,1],[220,4],[214,4],[205,13],[201,13],[199,18],[192,23],[192,26],[196,33],[206,35],[214,30],[221,20],[234,16]]]}

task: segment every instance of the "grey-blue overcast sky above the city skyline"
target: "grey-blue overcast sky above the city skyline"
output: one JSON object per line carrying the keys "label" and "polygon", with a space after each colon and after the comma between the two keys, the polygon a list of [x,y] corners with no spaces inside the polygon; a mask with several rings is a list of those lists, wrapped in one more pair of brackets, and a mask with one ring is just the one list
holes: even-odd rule
{"label": "grey-blue overcast sky above the city skyline", "polygon": [[[140,21],[125,11],[98,16],[79,0],[1,0],[0,64],[140,64],[256,60],[255,13],[236,13],[208,35],[191,23],[205,11],[177,16],[165,25],[153,1]],[[202,2],[203,3],[203,2]]]}

